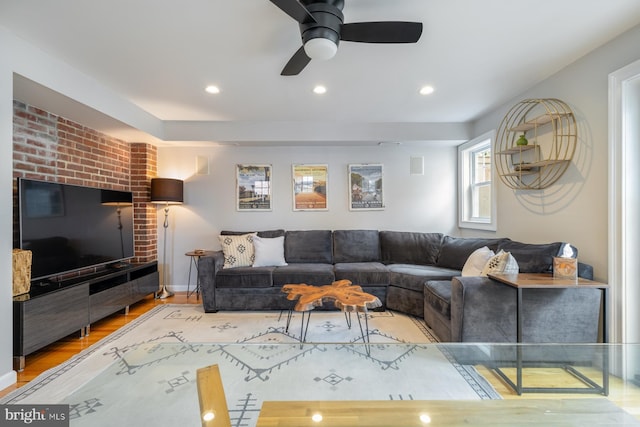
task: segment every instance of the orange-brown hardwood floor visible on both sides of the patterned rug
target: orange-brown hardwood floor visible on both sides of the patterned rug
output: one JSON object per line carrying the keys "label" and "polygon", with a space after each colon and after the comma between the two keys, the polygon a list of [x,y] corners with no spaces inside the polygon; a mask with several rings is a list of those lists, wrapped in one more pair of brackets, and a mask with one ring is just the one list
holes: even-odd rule
{"label": "orange-brown hardwood floor visible on both sides of the patterned rug", "polygon": [[[92,324],[90,334],[84,338],[79,338],[79,334],[71,335],[27,356],[25,369],[22,372],[18,372],[18,382],[15,385],[0,391],[0,397],[5,396],[11,391],[27,384],[42,372],[63,363],[112,332],[115,332],[118,328],[136,319],[140,315],[151,310],[153,307],[161,304],[201,304],[201,301],[196,299],[193,295],[187,298],[186,292],[179,292],[172,297],[162,300],[149,296],[139,303],[132,305],[128,314],[124,314],[123,312],[115,313],[106,319]],[[568,399],[597,397],[593,394],[551,393],[527,393],[523,396],[518,396],[493,371],[485,368],[484,366],[477,366],[476,368],[504,399]],[[596,373],[594,373],[594,375],[597,377]],[[526,384],[535,385],[531,382],[535,382],[540,379],[550,381],[555,386],[575,386],[574,383],[571,383],[571,381],[574,381],[573,377],[568,376],[564,371],[559,369],[537,369],[535,372],[533,370],[525,370],[523,374],[523,381]],[[616,405],[625,408],[627,412],[640,419],[640,387],[630,384],[623,385],[619,379],[611,377],[610,394],[608,398]]]}

